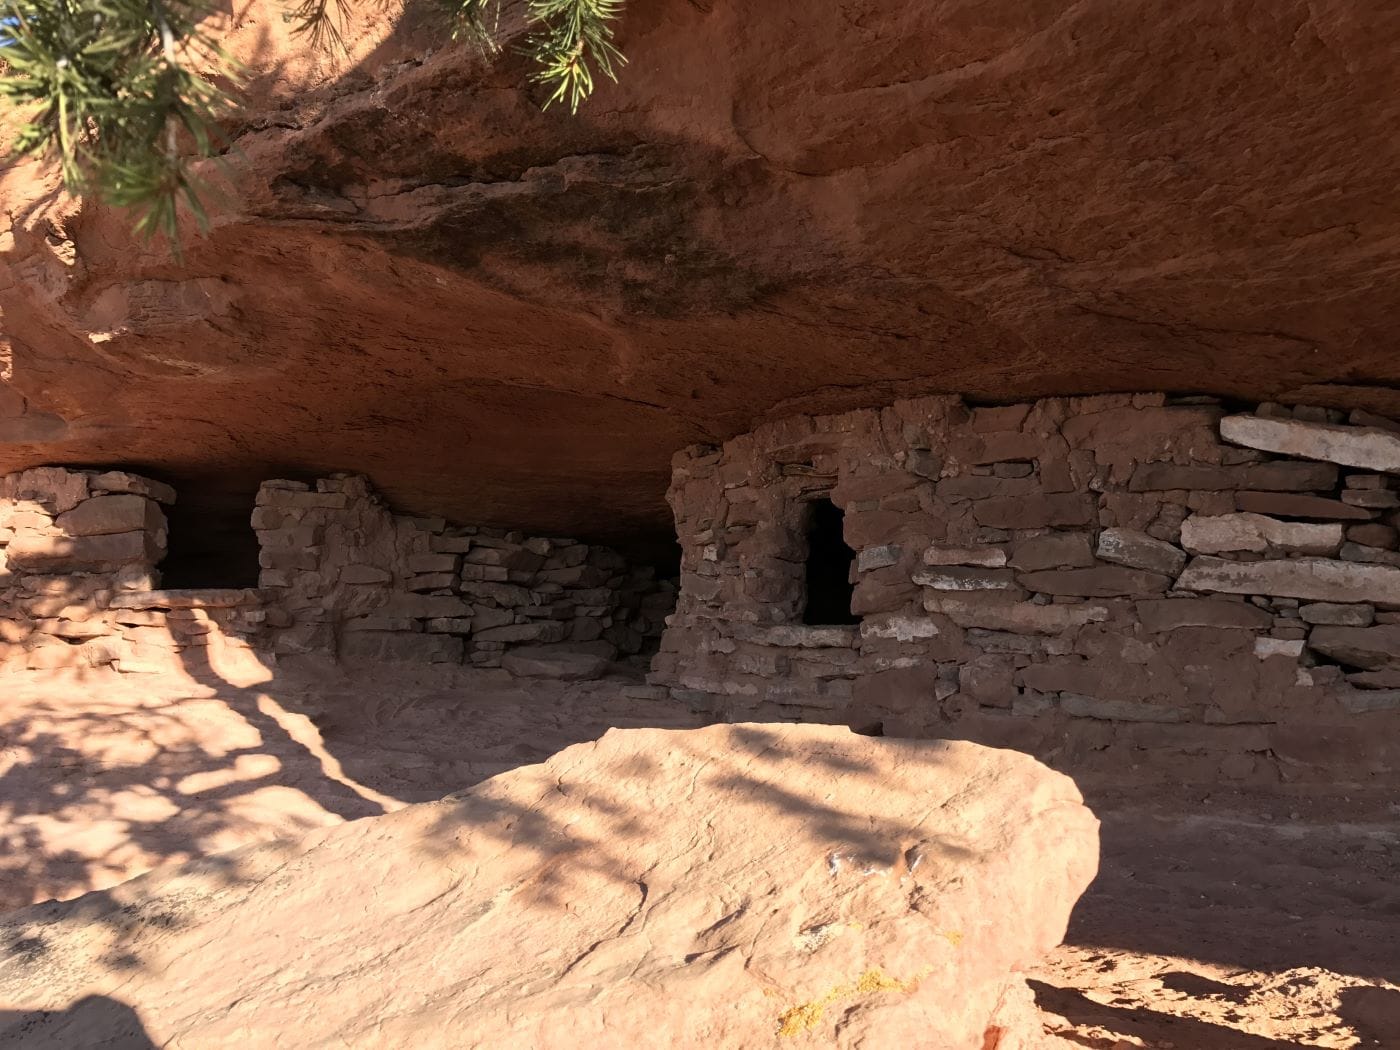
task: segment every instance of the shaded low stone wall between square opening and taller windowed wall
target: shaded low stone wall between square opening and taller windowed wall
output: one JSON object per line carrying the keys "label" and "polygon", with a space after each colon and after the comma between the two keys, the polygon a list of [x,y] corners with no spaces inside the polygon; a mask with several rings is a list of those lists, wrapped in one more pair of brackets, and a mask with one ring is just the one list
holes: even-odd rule
{"label": "shaded low stone wall between square opening and taller windowed wall", "polygon": [[608,547],[398,515],[364,477],[266,482],[253,526],[279,652],[501,666],[655,647],[675,585]]}

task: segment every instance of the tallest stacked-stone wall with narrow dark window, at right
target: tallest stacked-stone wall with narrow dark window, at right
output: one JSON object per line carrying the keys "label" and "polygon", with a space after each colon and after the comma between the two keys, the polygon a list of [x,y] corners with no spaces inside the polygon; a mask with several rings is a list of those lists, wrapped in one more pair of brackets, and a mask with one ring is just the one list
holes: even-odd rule
{"label": "tallest stacked-stone wall with narrow dark window, at right", "polygon": [[[966,736],[1078,773],[1400,771],[1400,435],[1159,395],[788,419],[675,458],[651,680],[721,717]],[[802,626],[808,504],[858,626]]]}

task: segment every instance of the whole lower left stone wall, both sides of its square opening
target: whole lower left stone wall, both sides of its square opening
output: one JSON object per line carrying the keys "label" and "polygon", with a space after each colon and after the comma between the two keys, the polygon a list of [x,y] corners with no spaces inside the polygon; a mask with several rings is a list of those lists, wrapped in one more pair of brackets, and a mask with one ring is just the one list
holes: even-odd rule
{"label": "whole lower left stone wall, both sides of its square opening", "polygon": [[[118,470],[0,479],[0,671],[218,672],[321,652],[346,662],[557,673],[641,652],[675,585],[608,547],[393,514],[365,479],[266,482],[258,588],[160,589],[174,489]],[[545,659],[542,665],[539,661]]]}

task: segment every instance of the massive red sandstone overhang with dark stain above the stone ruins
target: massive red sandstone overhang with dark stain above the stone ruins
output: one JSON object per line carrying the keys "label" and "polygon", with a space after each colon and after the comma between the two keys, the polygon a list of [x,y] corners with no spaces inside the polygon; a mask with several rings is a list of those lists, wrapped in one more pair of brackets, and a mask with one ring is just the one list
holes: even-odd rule
{"label": "massive red sandstone overhang with dark stain above the stone ruins", "polygon": [[389,34],[392,3],[339,69],[242,4],[232,203],[183,263],[6,175],[0,473],[130,462],[246,512],[262,477],[354,469],[616,545],[666,535],[673,451],[795,412],[1400,414],[1400,14],[1256,7],[655,0],[573,119],[511,48]]}

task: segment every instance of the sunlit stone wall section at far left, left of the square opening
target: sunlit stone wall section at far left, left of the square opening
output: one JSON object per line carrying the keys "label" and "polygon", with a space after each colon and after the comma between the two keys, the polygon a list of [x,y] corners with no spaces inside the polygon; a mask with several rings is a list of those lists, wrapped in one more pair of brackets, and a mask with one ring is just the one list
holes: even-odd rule
{"label": "sunlit stone wall section at far left, left of the square opening", "polygon": [[255,591],[157,591],[162,505],[175,491],[123,470],[0,477],[0,669],[162,672],[246,648]]}

